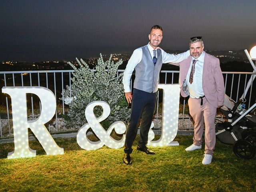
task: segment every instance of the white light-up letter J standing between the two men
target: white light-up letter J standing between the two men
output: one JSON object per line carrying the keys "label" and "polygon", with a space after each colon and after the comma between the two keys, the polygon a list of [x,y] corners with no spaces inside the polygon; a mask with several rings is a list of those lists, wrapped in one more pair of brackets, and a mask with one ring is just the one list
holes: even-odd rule
{"label": "white light-up letter J standing between the two men", "polygon": [[[159,140],[148,141],[151,146],[168,146],[178,132],[180,86],[179,84],[158,84],[163,89],[162,134]],[[151,127],[152,128],[152,124]],[[148,138],[152,140],[154,132],[150,130]],[[177,142],[176,142],[177,143]]]}

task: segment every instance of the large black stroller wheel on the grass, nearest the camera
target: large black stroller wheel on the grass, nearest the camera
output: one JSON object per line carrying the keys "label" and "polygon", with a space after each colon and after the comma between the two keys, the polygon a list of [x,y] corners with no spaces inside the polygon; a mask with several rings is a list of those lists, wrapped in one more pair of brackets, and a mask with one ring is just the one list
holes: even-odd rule
{"label": "large black stroller wheel on the grass, nearest the camera", "polygon": [[251,159],[255,156],[255,147],[246,140],[238,140],[234,143],[233,152],[238,157]]}

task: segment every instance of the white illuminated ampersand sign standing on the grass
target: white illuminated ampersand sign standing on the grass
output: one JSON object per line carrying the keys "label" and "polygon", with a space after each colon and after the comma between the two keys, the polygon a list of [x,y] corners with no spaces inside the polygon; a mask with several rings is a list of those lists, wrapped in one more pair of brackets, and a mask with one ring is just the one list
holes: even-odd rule
{"label": "white illuminated ampersand sign standing on the grass", "polygon": [[[98,118],[94,115],[93,109],[95,106],[101,106],[103,109],[102,115]],[[104,130],[100,122],[106,119],[110,114],[110,107],[104,101],[94,101],[88,104],[85,109],[85,117],[87,124],[84,124],[77,133],[76,140],[78,145],[86,150],[95,150],[101,148],[103,145],[109,148],[120,148],[124,146],[125,135],[121,140],[115,140],[110,136],[110,133],[115,129],[117,134],[124,134],[126,126],[122,121],[114,122],[108,130]],[[96,136],[100,139],[99,141],[93,142],[86,136],[86,132],[89,128],[92,128]]]}

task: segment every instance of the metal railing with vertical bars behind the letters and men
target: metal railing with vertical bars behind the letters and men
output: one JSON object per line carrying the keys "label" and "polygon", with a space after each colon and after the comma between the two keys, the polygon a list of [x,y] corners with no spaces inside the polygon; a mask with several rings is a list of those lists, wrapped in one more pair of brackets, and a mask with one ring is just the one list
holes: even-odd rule
{"label": "metal railing with vertical bars behind the letters and men", "polygon": [[[62,92],[68,85],[72,86],[73,70],[49,70],[49,71],[13,71],[13,72],[0,72],[0,138],[13,137],[12,132],[12,112],[10,97],[7,94],[2,93],[3,86],[43,86],[54,93],[56,97],[57,109],[56,114],[52,118],[46,127],[51,134],[68,132],[69,129],[65,128],[64,119],[60,114],[66,114],[68,112],[68,106],[64,104],[62,98]],[[118,74],[124,72],[124,70],[118,70]],[[225,92],[235,102],[244,93],[246,84],[248,83],[252,75],[256,73],[252,72],[222,72],[225,82]],[[134,77],[133,77],[134,78]],[[162,70],[160,72],[159,83],[161,84],[178,84],[179,71],[167,71]],[[131,81],[132,82],[132,81]],[[132,86],[132,83],[131,83]],[[249,108],[256,102],[256,84],[252,82],[250,91],[246,95],[246,108]],[[161,96],[161,92],[159,92]],[[70,89],[71,97],[71,89]],[[157,111],[154,117],[156,122],[155,128],[161,127],[161,97],[158,97]],[[38,117],[41,112],[40,100],[35,95],[27,95],[27,106],[28,106],[28,120],[34,120]],[[179,117],[179,129],[190,130],[193,127],[190,116],[187,112],[187,98],[180,99],[181,113]],[[72,130],[72,131],[77,131]]]}

